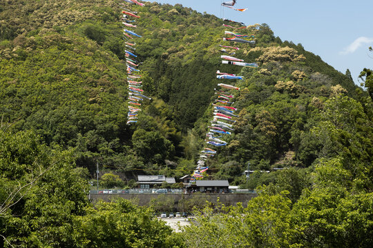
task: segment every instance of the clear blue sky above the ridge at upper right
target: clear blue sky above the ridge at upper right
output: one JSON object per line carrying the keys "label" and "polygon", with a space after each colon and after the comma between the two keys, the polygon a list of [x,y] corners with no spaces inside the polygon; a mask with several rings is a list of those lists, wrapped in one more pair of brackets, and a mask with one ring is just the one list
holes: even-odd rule
{"label": "clear blue sky above the ridge at upper right", "polygon": [[[181,3],[221,17],[221,0],[157,2]],[[246,25],[267,23],[281,40],[301,43],[340,72],[350,69],[355,83],[363,68],[373,68],[373,59],[367,54],[368,47],[373,46],[372,0],[238,0],[235,7],[249,10],[224,8],[224,17]]]}

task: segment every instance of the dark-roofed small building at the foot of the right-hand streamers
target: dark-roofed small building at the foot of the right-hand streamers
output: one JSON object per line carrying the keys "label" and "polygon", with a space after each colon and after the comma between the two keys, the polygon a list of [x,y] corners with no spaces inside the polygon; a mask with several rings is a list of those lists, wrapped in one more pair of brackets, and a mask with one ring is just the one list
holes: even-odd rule
{"label": "dark-roofed small building at the foot of the right-hand streamers", "polygon": [[229,193],[228,180],[197,180],[195,185],[188,188],[188,192]]}

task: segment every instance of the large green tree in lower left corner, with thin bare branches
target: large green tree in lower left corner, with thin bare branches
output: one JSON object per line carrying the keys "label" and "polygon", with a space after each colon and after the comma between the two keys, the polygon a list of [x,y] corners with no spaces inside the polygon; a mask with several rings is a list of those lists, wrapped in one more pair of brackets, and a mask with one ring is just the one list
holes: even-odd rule
{"label": "large green tree in lower left corner, with thin bare branches", "polygon": [[9,247],[73,247],[73,216],[88,205],[88,182],[71,151],[51,149],[33,132],[0,130],[0,233]]}

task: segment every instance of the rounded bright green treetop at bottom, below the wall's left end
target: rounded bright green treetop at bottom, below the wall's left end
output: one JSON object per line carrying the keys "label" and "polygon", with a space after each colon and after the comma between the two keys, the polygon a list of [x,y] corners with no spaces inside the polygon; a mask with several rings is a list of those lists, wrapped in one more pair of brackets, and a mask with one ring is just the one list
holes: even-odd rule
{"label": "rounded bright green treetop at bottom, below the wall's left end", "polygon": [[88,207],[74,220],[76,247],[182,247],[171,227],[153,216],[151,209],[118,198]]}

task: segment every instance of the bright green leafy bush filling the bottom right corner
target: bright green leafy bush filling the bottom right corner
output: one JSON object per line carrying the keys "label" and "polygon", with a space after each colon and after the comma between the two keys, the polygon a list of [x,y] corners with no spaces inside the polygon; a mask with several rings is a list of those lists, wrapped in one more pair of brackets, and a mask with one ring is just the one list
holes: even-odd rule
{"label": "bright green leafy bush filling the bottom right corner", "polygon": [[350,195],[341,187],[306,192],[293,209],[296,242],[305,247],[370,247],[372,197]]}

